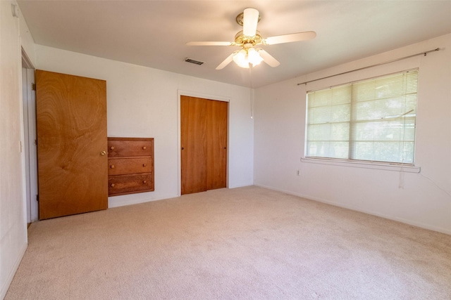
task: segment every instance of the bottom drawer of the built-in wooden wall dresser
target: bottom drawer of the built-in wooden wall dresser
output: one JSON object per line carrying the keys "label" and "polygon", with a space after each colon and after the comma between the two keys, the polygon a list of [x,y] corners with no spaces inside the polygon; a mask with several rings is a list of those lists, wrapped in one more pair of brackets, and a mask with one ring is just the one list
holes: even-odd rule
{"label": "bottom drawer of the built-in wooden wall dresser", "polygon": [[154,190],[152,174],[119,175],[108,178],[108,193],[110,196],[152,190]]}

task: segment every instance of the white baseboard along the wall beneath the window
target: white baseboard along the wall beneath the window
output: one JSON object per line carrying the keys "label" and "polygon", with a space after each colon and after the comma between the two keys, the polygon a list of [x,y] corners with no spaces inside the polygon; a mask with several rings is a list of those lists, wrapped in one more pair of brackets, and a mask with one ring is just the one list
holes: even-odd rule
{"label": "white baseboard along the wall beneath the window", "polygon": [[344,209],[351,209],[353,211],[363,212],[364,214],[371,214],[373,216],[379,216],[379,217],[381,217],[383,219],[397,221],[397,222],[405,223],[405,224],[408,224],[408,225],[416,226],[416,227],[419,227],[419,228],[424,228],[424,229],[428,229],[428,230],[437,231],[438,233],[445,233],[447,235],[451,235],[451,230],[447,230],[446,228],[440,228],[440,227],[436,227],[436,226],[431,226],[429,224],[416,222],[416,221],[412,221],[412,220],[408,220],[408,219],[402,219],[402,218],[396,218],[396,217],[394,218],[393,216],[387,216],[387,215],[384,215],[384,214],[379,214],[379,213],[374,212],[374,211],[368,211],[368,210],[365,210],[365,209],[359,209],[357,207],[352,207],[352,205],[346,205],[346,204],[333,202],[333,201],[330,201],[330,200],[324,200],[324,199],[321,199],[319,197],[314,197],[314,196],[311,196],[311,195],[304,195],[304,194],[300,194],[300,193],[294,193],[294,192],[291,192],[290,190],[282,190],[280,188],[273,188],[271,186],[261,185],[261,184],[258,184],[258,183],[254,183],[254,185],[259,186],[260,188],[267,188],[268,190],[276,190],[276,191],[281,192],[281,193],[285,193],[285,194],[288,194],[288,195],[301,197],[301,198],[304,198],[304,199],[307,199],[307,200],[312,200],[312,201],[316,201],[316,202],[330,204],[330,205],[333,205],[335,207],[342,207]]}

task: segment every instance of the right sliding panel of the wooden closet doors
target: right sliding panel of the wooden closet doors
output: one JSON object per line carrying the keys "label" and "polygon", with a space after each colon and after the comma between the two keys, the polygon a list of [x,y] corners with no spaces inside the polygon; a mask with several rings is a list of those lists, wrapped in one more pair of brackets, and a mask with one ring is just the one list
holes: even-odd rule
{"label": "right sliding panel of the wooden closet doors", "polygon": [[206,189],[227,185],[228,103],[206,101]]}

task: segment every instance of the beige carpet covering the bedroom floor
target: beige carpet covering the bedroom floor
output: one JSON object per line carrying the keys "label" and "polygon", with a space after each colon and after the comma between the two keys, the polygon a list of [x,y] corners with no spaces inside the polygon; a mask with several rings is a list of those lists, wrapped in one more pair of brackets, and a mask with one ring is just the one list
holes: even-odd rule
{"label": "beige carpet covering the bedroom floor", "polygon": [[211,190],[32,223],[6,299],[451,299],[451,236]]}

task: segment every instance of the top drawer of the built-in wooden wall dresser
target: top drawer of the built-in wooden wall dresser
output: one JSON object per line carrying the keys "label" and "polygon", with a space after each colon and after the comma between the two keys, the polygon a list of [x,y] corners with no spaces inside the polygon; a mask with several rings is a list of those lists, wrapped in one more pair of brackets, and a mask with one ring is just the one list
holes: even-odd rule
{"label": "top drawer of the built-in wooden wall dresser", "polygon": [[108,157],[152,156],[153,138],[108,138]]}

